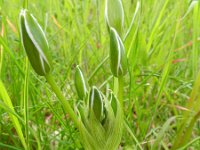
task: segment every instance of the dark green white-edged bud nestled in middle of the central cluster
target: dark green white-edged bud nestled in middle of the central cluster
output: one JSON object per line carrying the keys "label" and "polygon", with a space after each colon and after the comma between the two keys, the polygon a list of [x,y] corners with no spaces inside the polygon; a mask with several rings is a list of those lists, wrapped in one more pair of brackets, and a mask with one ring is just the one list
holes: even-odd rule
{"label": "dark green white-edged bud nestled in middle of the central cluster", "polygon": [[89,97],[90,109],[94,112],[97,120],[102,121],[103,119],[103,98],[101,92],[96,88],[92,87]]}

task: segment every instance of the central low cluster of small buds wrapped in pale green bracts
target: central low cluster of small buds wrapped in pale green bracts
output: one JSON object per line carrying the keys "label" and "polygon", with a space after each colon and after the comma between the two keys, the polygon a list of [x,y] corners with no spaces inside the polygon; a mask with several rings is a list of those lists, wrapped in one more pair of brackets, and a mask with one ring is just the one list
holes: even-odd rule
{"label": "central low cluster of small buds wrapped in pale green bracts", "polygon": [[[113,93],[106,97],[95,86],[87,92],[86,81],[80,68],[76,68],[76,90],[78,95],[85,95],[80,114],[80,135],[85,149],[116,150],[122,136],[123,111]],[[84,85],[85,84],[85,85]]]}

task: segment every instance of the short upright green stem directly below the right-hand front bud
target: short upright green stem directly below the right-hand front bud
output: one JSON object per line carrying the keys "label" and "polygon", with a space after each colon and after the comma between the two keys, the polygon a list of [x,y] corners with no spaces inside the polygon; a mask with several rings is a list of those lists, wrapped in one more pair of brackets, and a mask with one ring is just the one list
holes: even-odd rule
{"label": "short upright green stem directly below the right-hand front bud", "polygon": [[118,77],[118,99],[123,108],[123,96],[124,96],[124,80],[123,76]]}

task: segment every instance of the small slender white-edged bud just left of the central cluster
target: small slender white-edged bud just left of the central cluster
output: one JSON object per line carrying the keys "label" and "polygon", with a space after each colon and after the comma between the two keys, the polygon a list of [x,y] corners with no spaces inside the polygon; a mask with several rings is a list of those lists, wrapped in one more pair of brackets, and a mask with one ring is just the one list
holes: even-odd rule
{"label": "small slender white-edged bud just left of the central cluster", "polygon": [[87,93],[87,87],[83,73],[79,66],[76,67],[75,71],[75,87],[79,98],[83,100]]}

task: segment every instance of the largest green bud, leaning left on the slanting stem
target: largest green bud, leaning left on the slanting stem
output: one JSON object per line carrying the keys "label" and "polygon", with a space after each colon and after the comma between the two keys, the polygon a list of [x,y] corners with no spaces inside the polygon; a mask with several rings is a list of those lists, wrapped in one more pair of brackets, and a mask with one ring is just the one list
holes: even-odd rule
{"label": "largest green bud, leaning left on the slanting stem", "polygon": [[37,74],[45,76],[50,72],[47,57],[49,45],[41,26],[28,10],[21,10],[20,13],[20,35],[33,69]]}

